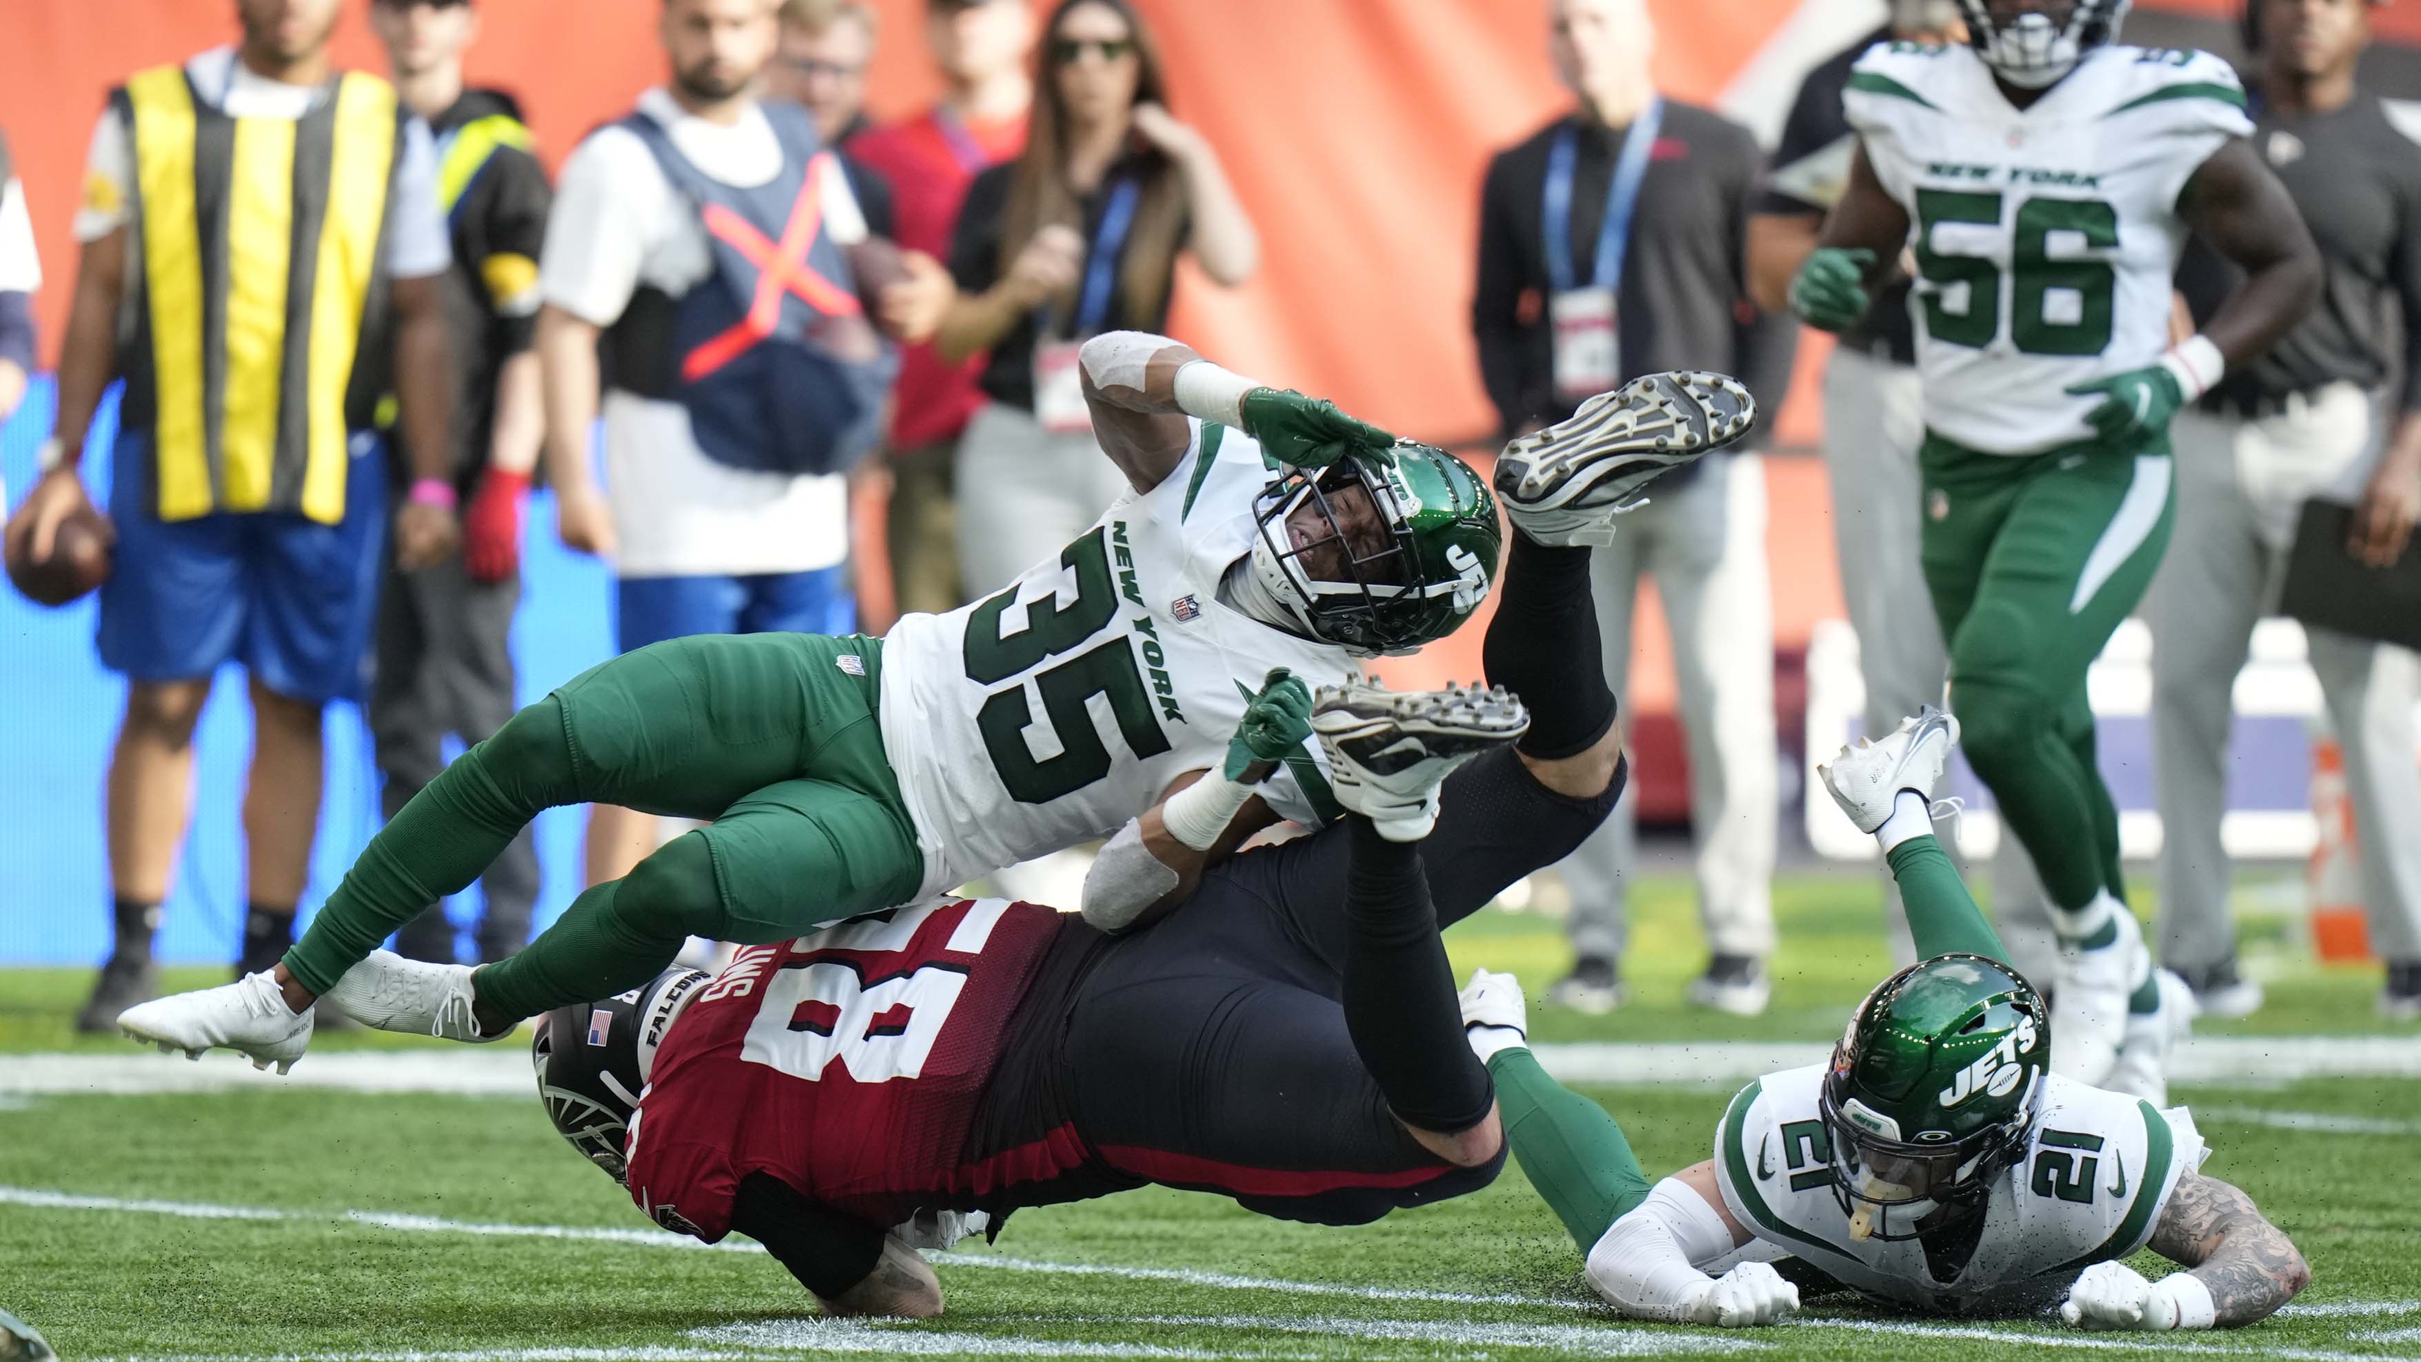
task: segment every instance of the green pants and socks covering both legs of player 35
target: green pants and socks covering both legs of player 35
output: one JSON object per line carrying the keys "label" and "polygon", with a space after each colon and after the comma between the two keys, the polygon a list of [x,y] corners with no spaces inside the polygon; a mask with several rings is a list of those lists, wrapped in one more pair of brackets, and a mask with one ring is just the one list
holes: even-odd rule
{"label": "green pants and socks covering both legs of player 35", "polygon": [[712,820],[588,888],[479,970],[489,1018],[610,997],[683,941],[767,943],[893,907],[925,878],[884,755],[881,639],[702,634],[600,663],[455,760],[370,839],[286,956],[324,994],[424,905],[460,893],[542,808]]}

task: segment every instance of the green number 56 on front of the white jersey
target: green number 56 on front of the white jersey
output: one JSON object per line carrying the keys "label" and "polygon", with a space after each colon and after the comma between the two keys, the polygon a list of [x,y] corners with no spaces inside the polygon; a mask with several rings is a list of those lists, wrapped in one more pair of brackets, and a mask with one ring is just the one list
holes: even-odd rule
{"label": "green number 56 on front of the white jersey", "polygon": [[[1983,189],[1917,189],[1917,273],[1925,290],[1925,331],[1954,346],[1985,348],[2000,336],[2000,264],[1934,249],[1934,227],[1997,230],[2002,196]],[[2026,198],[2017,206],[2009,249],[2009,341],[2029,356],[2099,356],[2111,344],[2118,271],[2109,261],[2065,252],[2118,247],[2118,210],[2101,198]],[[2063,254],[2053,256],[2053,235]],[[1951,312],[1951,285],[1966,285],[1966,307]]]}

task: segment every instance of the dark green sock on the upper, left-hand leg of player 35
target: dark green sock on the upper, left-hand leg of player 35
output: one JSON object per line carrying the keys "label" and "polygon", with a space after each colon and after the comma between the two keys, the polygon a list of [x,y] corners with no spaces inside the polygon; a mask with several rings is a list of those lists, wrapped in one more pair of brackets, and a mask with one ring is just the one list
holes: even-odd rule
{"label": "dark green sock on the upper, left-hand leg of player 35", "polygon": [[286,951],[286,968],[312,994],[337,987],[397,927],[470,888],[542,808],[576,803],[571,791],[562,702],[547,697],[462,752],[370,837]]}

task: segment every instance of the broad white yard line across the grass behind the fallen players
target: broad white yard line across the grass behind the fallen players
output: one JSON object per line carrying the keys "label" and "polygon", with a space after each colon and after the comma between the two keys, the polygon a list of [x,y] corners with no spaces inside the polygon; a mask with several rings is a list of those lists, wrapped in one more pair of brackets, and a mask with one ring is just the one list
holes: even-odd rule
{"label": "broad white yard line across the grass behind the fallen players", "polygon": [[[1816,1064],[1823,1043],[1687,1040],[1537,1045],[1545,1069],[1569,1084],[1726,1086]],[[2179,1084],[2281,1084],[2290,1079],[2421,1079],[2421,1035],[2210,1035],[2179,1045]],[[504,1050],[339,1050],[307,1055],[288,1077],[261,1074],[237,1055],[184,1062],[169,1055],[0,1055],[0,1098],[58,1093],[203,1093],[337,1089],[361,1093],[533,1093],[530,1062]],[[2356,1120],[2356,1118],[2346,1118]],[[2324,1130],[2319,1125],[2310,1130]],[[2351,1130],[2351,1127],[2348,1127]],[[2402,1135],[2421,1125],[2382,1135]],[[2363,1130],[2368,1135],[2368,1130]]]}

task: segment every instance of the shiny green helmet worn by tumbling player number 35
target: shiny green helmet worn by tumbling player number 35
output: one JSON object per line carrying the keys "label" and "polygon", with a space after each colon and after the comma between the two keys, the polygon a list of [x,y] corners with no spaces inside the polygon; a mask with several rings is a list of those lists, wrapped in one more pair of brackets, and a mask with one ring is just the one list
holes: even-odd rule
{"label": "shiny green helmet worn by tumbling player number 35", "polygon": [[1254,501],[1254,576],[1315,639],[1365,658],[1453,634],[1503,552],[1496,496],[1470,464],[1411,440],[1390,455],[1281,469]]}

